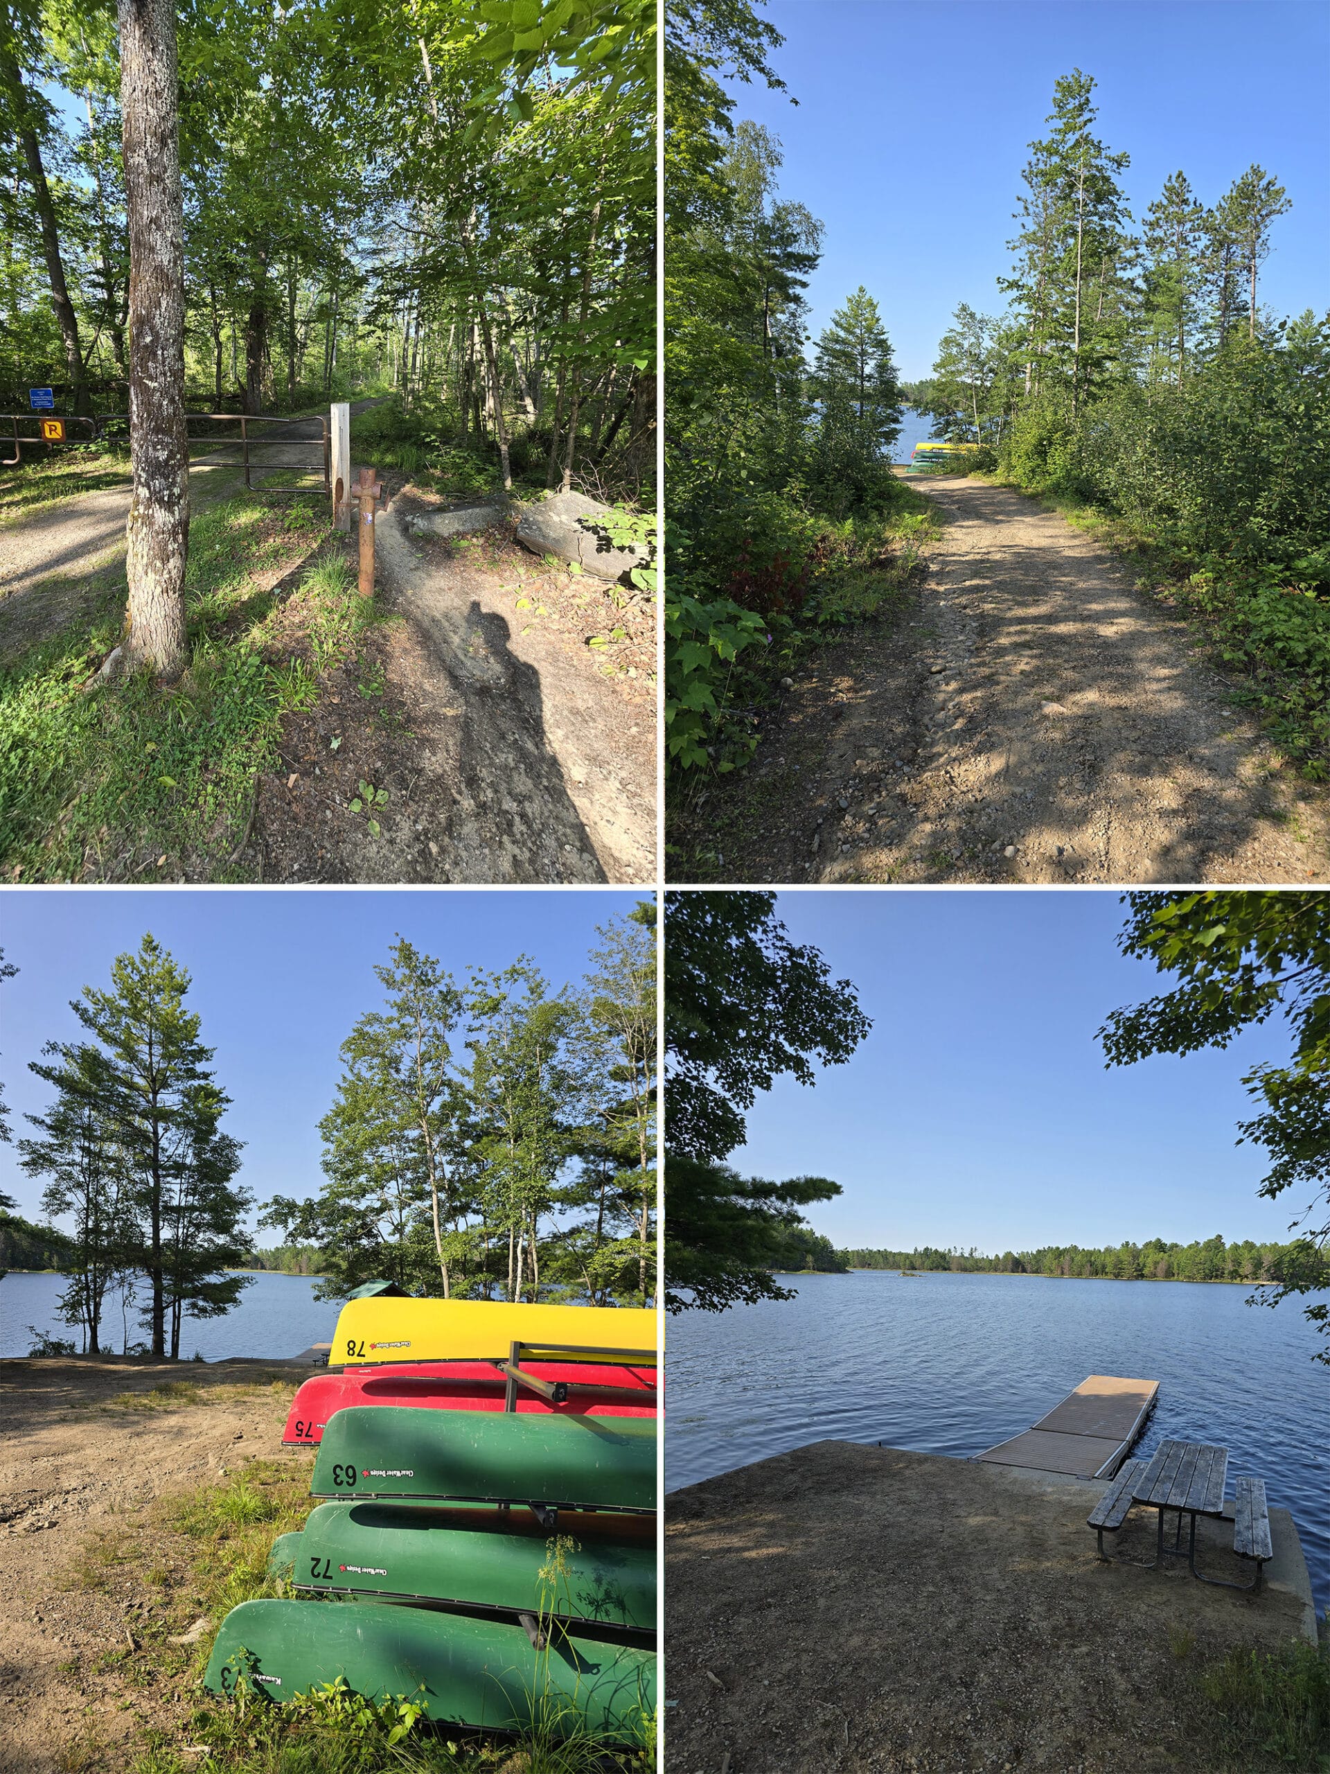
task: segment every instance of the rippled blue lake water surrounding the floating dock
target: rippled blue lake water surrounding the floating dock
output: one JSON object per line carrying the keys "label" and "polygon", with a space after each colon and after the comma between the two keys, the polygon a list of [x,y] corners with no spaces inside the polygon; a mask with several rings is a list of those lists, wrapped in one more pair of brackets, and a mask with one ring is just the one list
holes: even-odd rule
{"label": "rippled blue lake water surrounding the floating dock", "polygon": [[1218,1442],[1298,1524],[1330,1604],[1330,1368],[1287,1300],[1185,1281],[784,1276],[794,1300],[667,1322],[665,1488],[805,1442],[968,1456],[1027,1430],[1089,1373],[1158,1380],[1137,1451]]}

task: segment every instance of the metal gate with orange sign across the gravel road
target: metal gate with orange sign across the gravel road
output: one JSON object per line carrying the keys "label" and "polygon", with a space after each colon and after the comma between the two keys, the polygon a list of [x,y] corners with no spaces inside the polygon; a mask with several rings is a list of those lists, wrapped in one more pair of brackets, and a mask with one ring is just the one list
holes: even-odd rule
{"label": "metal gate with orange sign across the gravel road", "polygon": [[[0,467],[12,468],[23,447],[53,451],[60,442],[128,444],[128,413],[94,413],[90,419],[64,419],[64,438],[43,436],[43,424],[55,413],[0,413],[0,436],[12,454]],[[78,426],[80,436],[69,436]],[[270,419],[259,413],[186,413],[192,468],[238,467],[245,486],[261,493],[317,493],[332,497],[332,436],[328,415],[307,419]],[[273,484],[270,475],[294,470],[296,484]],[[294,479],[294,477],[293,477]]]}

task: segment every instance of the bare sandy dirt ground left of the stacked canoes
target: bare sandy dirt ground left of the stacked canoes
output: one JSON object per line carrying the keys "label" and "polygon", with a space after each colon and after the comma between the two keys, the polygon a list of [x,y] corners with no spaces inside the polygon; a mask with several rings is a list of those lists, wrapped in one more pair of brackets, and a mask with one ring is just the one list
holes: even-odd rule
{"label": "bare sandy dirt ground left of the stacked canoes", "polygon": [[[170,1547],[158,1543],[153,1504],[245,1460],[286,1458],[291,1387],[309,1371],[0,1362],[5,1774],[124,1767],[117,1744],[188,1714],[193,1692],[154,1678],[144,1650],[197,1614],[188,1595],[170,1595]],[[188,1382],[197,1398],[135,1409],[163,1382]]]}

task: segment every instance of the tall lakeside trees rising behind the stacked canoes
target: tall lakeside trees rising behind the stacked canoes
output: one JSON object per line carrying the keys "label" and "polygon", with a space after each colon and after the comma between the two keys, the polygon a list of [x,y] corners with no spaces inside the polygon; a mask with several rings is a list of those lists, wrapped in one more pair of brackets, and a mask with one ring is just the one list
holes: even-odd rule
{"label": "tall lakeside trees rising behind the stacked canoes", "polygon": [[255,1201],[188,972],[151,935],[121,954],[110,990],[85,986],[73,1006],[82,1038],[30,1061],[51,1100],[16,1141],[43,1212],[69,1228],[43,1254],[69,1277],[59,1316],[82,1348],[106,1348],[110,1322],[128,1346],[137,1313],[137,1346],[177,1359],[184,1320],[231,1311],[243,1268],[319,1274],[323,1299],[385,1277],[445,1297],[645,1306],[654,907],[598,938],[582,988],[560,992],[523,956],[459,981],[399,938],[376,969],[383,1008],[342,1043],[319,1194],[262,1206],[259,1224],[284,1231],[271,1251],[248,1229]]}

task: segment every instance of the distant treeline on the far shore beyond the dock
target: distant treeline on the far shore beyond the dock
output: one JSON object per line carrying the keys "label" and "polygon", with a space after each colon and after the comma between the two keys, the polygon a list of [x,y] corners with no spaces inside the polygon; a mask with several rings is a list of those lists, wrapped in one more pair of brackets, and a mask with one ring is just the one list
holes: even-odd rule
{"label": "distant treeline on the far shore beyond the dock", "polygon": [[1279,1283],[1284,1265],[1302,1247],[1296,1244],[1256,1244],[1245,1238],[1225,1244],[1215,1238],[1177,1244],[1147,1238],[1144,1244],[1117,1244],[1082,1249],[1076,1244],[1041,1245],[1037,1251],[1004,1251],[982,1256],[979,1251],[837,1251],[844,1268],[951,1270],[952,1274],[1073,1276],[1112,1281],[1256,1281]]}

